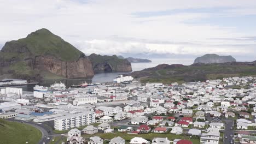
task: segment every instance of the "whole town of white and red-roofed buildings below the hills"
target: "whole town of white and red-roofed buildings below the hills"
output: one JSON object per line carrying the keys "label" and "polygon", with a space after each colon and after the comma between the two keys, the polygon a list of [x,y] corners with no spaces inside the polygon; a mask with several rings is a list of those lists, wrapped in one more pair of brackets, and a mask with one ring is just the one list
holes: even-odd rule
{"label": "whole town of white and red-roofed buildings below the hills", "polygon": [[170,85],[129,76],[114,81],[71,88],[56,82],[33,92],[1,87],[0,118],[40,129],[39,143],[256,141],[256,77]]}

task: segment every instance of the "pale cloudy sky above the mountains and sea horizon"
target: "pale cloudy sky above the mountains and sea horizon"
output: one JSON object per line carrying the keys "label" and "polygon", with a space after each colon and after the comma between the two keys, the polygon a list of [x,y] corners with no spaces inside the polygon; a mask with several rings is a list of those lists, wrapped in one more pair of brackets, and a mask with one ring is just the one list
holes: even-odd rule
{"label": "pale cloudy sky above the mountains and sea horizon", "polygon": [[47,28],[86,55],[256,60],[254,0],[0,2],[1,47]]}

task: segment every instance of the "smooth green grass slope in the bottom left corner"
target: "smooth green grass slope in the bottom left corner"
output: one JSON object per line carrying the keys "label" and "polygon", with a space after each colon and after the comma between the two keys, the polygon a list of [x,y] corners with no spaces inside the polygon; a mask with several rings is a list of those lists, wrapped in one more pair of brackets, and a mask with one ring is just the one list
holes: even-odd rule
{"label": "smooth green grass slope in the bottom left corner", "polygon": [[0,143],[38,143],[42,133],[31,125],[0,118]]}

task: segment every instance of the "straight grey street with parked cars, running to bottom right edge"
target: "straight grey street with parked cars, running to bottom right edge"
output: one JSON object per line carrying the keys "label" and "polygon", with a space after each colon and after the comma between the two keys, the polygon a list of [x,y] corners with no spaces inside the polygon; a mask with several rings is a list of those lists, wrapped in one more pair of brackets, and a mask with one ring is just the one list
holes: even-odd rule
{"label": "straight grey street with parked cars, running to bottom right edge", "polygon": [[[230,128],[232,128],[232,130]],[[232,136],[230,136],[230,135],[232,135]],[[227,138],[225,138],[225,136]],[[233,137],[234,137],[234,121],[231,119],[225,119],[223,143],[235,143]]]}

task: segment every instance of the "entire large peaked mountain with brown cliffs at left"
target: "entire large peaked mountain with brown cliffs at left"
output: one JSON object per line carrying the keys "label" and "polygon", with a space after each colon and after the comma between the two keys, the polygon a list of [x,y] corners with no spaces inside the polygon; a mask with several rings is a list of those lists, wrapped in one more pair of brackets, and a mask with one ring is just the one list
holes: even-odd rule
{"label": "entire large peaked mountain with brown cliffs at left", "polygon": [[44,72],[66,78],[94,75],[83,52],[47,29],[5,43],[0,51],[0,65],[1,74],[13,74],[19,79],[43,79]]}

